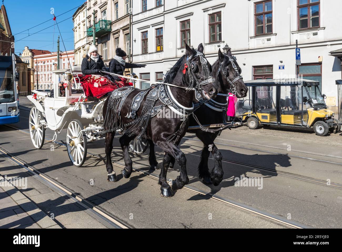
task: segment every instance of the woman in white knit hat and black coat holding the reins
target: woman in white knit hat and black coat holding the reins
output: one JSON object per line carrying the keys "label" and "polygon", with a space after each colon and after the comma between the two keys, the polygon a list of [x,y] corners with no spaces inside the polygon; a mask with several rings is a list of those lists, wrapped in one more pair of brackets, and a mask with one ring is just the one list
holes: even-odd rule
{"label": "woman in white knit hat and black coat holding the reins", "polygon": [[97,48],[91,45],[82,61],[82,74],[101,74],[101,71],[106,71],[105,64],[101,55],[97,53]]}

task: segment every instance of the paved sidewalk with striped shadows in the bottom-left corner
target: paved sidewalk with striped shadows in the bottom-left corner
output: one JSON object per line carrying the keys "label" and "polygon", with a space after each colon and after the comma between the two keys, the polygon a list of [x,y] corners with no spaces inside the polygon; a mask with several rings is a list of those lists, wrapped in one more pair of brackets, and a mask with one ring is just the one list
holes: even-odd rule
{"label": "paved sidewalk with striped shadows in the bottom-left corner", "polygon": [[0,228],[61,228],[8,180],[0,176]]}

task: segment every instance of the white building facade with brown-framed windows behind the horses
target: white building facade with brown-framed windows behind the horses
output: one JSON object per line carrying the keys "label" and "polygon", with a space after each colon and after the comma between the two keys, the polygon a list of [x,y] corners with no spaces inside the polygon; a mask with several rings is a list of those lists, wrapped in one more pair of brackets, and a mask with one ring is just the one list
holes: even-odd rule
{"label": "white building facade with brown-framed windows behind the horses", "polygon": [[330,52],[342,48],[340,0],[133,2],[133,62],[147,64],[134,72],[142,79],[159,80],[184,54],[184,41],[194,48],[203,43],[210,63],[228,44],[245,80],[293,78],[297,39],[299,73],[320,81],[327,105],[337,105],[341,57]]}

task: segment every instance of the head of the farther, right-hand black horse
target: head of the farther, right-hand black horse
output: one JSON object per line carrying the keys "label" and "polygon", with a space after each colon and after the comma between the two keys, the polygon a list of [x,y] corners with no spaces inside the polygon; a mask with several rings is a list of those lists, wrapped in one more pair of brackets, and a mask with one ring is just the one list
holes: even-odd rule
{"label": "head of the farther, right-hand black horse", "polygon": [[233,58],[232,52],[229,49],[227,54],[223,54],[219,49],[219,70],[216,73],[219,80],[222,80],[226,90],[236,94],[237,98],[247,96],[248,88],[242,80],[241,68]]}

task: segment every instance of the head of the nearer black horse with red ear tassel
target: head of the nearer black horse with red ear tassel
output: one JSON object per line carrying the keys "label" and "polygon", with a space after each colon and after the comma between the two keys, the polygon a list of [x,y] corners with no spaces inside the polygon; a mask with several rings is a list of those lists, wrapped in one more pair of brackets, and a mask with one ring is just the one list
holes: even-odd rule
{"label": "head of the nearer black horse with red ear tassel", "polygon": [[[197,50],[190,48],[185,43],[187,66],[186,80],[189,81],[189,87],[197,88],[203,99],[215,98],[218,93],[218,84],[211,76],[211,65],[203,54],[203,45],[200,43]],[[183,72],[184,73],[184,72]]]}

